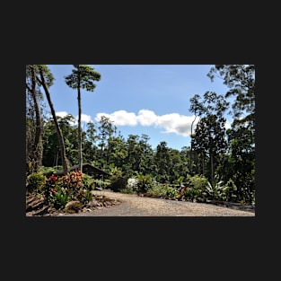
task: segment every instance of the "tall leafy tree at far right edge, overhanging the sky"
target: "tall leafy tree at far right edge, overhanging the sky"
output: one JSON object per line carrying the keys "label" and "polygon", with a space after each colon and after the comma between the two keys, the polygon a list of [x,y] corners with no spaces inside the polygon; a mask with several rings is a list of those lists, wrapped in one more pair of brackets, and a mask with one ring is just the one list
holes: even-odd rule
{"label": "tall leafy tree at far right edge, overhanging the sky", "polygon": [[233,173],[241,199],[251,201],[255,193],[255,66],[215,65],[208,76],[224,80],[233,97],[232,128],[228,130]]}

